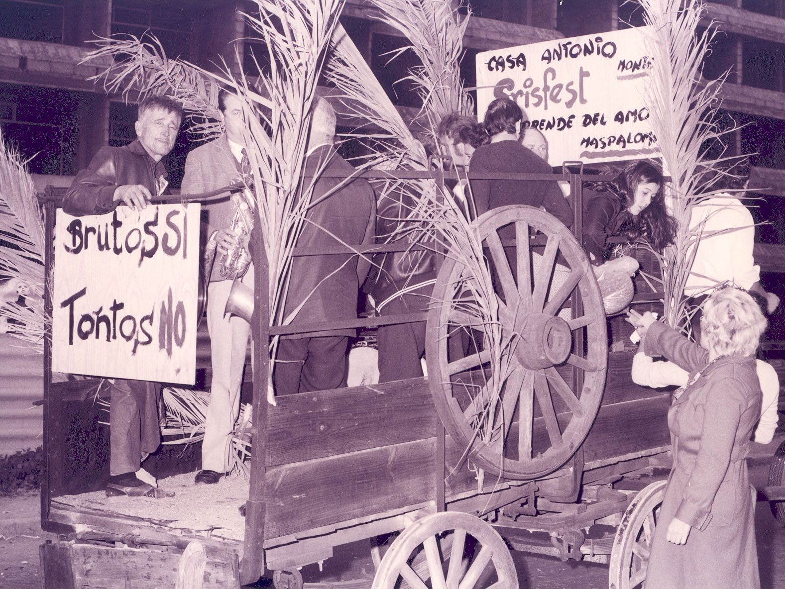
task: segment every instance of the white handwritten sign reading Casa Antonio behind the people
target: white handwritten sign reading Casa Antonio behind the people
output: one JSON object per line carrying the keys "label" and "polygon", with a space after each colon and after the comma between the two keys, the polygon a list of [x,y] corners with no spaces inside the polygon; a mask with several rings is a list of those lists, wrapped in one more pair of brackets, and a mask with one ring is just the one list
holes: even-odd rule
{"label": "white handwritten sign reading Casa Antonio behind the people", "polygon": [[478,53],[477,108],[507,96],[548,141],[548,163],[659,156],[642,97],[645,27]]}

